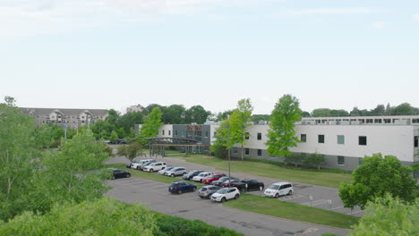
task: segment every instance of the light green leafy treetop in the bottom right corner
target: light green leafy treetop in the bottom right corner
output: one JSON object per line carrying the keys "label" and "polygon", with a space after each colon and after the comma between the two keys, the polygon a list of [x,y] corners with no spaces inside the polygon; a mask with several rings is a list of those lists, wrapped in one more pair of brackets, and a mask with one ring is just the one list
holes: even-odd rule
{"label": "light green leafy treetop in the bottom right corner", "polygon": [[406,203],[386,195],[368,202],[351,236],[419,235],[419,198]]}

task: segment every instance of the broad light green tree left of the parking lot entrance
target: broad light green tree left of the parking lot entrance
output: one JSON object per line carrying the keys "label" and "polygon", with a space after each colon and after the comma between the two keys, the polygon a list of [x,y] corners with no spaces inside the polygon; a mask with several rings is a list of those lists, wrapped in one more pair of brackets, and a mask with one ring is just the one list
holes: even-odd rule
{"label": "broad light green tree left of the parking lot entrance", "polygon": [[52,151],[40,158],[40,168],[30,183],[31,209],[47,212],[55,203],[100,198],[108,190],[109,177],[102,164],[109,157],[107,145],[97,141],[89,131],[79,131],[62,144],[61,151]]}

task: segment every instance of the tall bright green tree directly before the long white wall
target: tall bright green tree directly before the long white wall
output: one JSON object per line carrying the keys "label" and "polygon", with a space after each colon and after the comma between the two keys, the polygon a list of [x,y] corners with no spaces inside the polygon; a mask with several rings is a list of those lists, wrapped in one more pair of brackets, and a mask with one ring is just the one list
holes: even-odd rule
{"label": "tall bright green tree directly before the long white wall", "polygon": [[275,105],[269,122],[267,151],[270,156],[289,156],[289,147],[296,147],[294,123],[301,120],[301,110],[296,97],[284,95]]}

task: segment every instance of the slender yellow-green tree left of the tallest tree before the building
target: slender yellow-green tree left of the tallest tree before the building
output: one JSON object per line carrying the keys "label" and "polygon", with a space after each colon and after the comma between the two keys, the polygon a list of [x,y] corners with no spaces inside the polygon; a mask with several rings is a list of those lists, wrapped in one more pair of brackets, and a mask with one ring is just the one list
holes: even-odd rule
{"label": "slender yellow-green tree left of the tallest tree before the building", "polygon": [[229,122],[229,134],[231,141],[241,145],[242,149],[242,160],[244,159],[244,143],[246,141],[244,135],[246,128],[250,125],[252,116],[252,103],[249,98],[242,99],[237,103],[237,109],[230,115]]}

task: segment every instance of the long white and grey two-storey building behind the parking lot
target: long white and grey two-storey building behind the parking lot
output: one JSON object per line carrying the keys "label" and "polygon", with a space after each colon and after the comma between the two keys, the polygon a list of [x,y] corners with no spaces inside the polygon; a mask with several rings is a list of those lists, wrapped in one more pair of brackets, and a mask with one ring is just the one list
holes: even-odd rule
{"label": "long white and grey two-storey building behind the parking lot", "polygon": [[[196,139],[203,144],[212,144],[217,128],[217,123],[164,125],[158,136]],[[247,128],[245,157],[281,160],[281,157],[269,156],[266,152],[268,131],[267,123],[252,124]],[[415,157],[419,150],[419,115],[308,117],[295,123],[295,132],[300,143],[290,150],[324,155],[327,161],[324,167],[328,168],[352,171],[362,164],[364,156],[375,153],[397,156],[406,165],[419,162],[419,157]],[[231,155],[241,156],[240,147],[234,147]]]}

